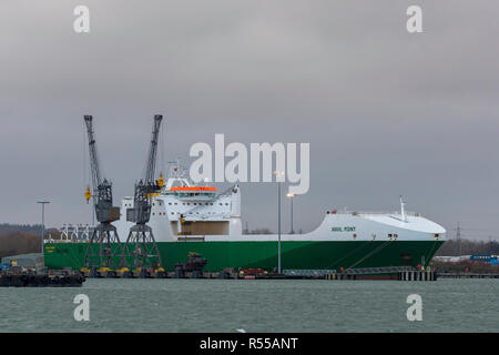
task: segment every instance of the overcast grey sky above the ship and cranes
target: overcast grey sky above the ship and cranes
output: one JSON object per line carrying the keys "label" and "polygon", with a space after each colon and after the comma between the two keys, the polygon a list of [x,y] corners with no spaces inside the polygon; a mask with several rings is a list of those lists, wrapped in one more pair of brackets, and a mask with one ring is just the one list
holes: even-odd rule
{"label": "overcast grey sky above the ship and cranes", "polygon": [[[410,4],[424,33],[406,30]],[[497,1],[2,0],[0,222],[37,223],[39,199],[50,226],[90,221],[83,114],[116,203],[131,195],[163,113],[164,159],[186,165],[215,133],[309,142],[295,230],[401,194],[449,236],[460,222],[499,237],[498,18]],[[244,221],[275,231],[276,185],[242,187]],[[284,201],[284,231],[288,216]]]}

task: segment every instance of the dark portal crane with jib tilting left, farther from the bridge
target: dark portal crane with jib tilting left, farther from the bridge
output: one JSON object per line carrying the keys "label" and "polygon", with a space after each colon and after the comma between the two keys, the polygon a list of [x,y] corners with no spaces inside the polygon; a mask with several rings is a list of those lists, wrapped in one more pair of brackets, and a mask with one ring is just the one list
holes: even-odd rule
{"label": "dark portal crane with jib tilting left, farther from the bridge", "polygon": [[[93,118],[84,116],[89,139],[90,168],[93,187],[93,204],[99,225],[93,230],[85,252],[84,267],[95,273],[96,268],[103,272],[113,272],[113,268],[123,265],[123,251],[116,227],[111,223],[120,219],[120,209],[113,206],[112,183],[103,179],[99,161]],[[89,191],[86,199],[90,200]],[[102,270],[103,267],[109,270]],[[94,274],[95,275],[95,274]]]}

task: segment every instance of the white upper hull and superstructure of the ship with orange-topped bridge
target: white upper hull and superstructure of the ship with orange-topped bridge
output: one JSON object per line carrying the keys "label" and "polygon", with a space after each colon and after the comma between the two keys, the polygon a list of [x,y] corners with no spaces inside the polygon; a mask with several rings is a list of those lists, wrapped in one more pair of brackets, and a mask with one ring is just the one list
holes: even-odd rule
{"label": "white upper hull and superstructure of the ship with orange-topped bridge", "polygon": [[[121,203],[121,220],[114,225],[125,236],[133,225],[126,209],[133,199]],[[243,235],[241,187],[236,184],[217,194],[215,187],[193,184],[176,163],[170,168],[161,192],[152,197],[149,225],[157,242],[176,241],[275,241],[276,235]],[[307,234],[282,235],[282,241],[441,241],[446,230],[419,214],[400,212],[361,213],[328,211],[323,223]]]}

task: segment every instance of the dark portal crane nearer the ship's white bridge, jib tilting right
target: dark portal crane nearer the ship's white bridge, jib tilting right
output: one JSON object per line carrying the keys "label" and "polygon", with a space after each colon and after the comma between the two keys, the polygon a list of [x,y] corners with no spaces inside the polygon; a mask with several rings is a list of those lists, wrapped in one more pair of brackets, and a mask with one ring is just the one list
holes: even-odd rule
{"label": "dark portal crane nearer the ship's white bridge, jib tilting right", "polygon": [[129,237],[124,247],[124,260],[128,265],[135,268],[141,277],[147,276],[147,268],[154,267],[156,272],[164,272],[161,267],[161,257],[153,231],[147,225],[151,219],[152,196],[161,190],[162,176],[154,180],[156,166],[156,153],[160,135],[160,126],[163,116],[154,115],[151,143],[149,146],[147,161],[143,179],[135,183],[133,207],[126,210],[126,220],[134,222],[130,229]]}

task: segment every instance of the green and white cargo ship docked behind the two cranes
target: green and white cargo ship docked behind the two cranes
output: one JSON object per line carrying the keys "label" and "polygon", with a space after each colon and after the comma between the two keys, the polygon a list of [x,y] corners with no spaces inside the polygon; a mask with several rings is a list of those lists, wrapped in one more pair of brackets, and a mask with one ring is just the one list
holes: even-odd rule
{"label": "green and white cargo ship docked behind the two cranes", "polygon": [[[207,260],[205,271],[263,268],[274,271],[278,258],[278,236],[244,234],[241,216],[241,186],[225,192],[194,184],[186,170],[172,164],[161,192],[152,196],[152,227],[162,266],[173,271],[190,253]],[[133,199],[121,202],[116,226],[120,240],[133,223],[126,211]],[[446,240],[446,230],[418,213],[366,213],[325,211],[320,225],[305,234],[282,234],[282,268],[289,271],[344,271],[349,268],[425,266]],[[71,237],[45,241],[45,266],[80,270],[88,241]]]}

